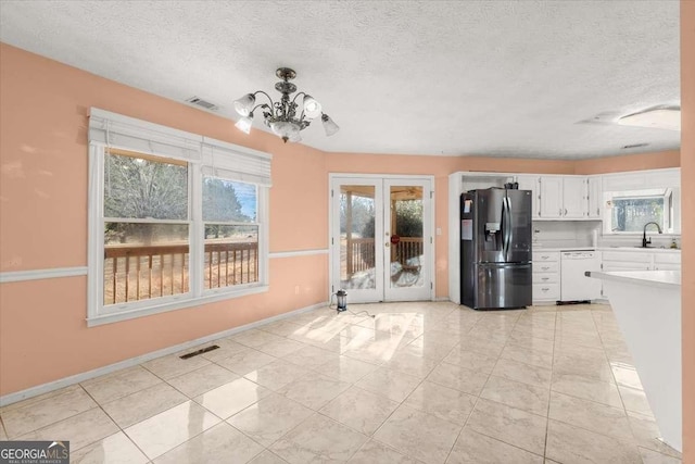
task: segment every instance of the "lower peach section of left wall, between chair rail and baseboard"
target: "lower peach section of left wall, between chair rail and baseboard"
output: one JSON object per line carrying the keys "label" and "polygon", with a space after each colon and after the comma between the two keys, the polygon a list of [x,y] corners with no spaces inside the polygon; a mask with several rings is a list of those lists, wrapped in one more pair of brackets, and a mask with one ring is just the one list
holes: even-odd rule
{"label": "lower peach section of left wall, between chair rail and baseboard", "polygon": [[[326,300],[327,255],[270,260],[270,291],[87,328],[87,278],[2,284],[2,394]],[[300,286],[295,294],[294,287]]]}

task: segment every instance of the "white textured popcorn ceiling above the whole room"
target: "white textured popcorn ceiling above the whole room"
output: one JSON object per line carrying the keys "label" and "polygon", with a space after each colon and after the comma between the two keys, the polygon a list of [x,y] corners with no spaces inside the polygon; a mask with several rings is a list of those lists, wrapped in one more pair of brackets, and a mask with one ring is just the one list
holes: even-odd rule
{"label": "white textured popcorn ceiling above the whole room", "polygon": [[[2,0],[0,40],[198,96],[232,120],[235,99],[275,98],[275,70],[293,67],[341,126],[302,133],[327,151],[572,159],[680,146],[678,131],[611,124],[679,104],[678,1]],[[621,149],[635,143],[649,145]]]}

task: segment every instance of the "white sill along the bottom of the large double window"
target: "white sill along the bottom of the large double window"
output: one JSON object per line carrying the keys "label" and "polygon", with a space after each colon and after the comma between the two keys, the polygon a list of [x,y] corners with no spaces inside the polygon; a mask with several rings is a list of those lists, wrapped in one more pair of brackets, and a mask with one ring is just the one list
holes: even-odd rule
{"label": "white sill along the bottom of the large double window", "polygon": [[163,304],[152,305],[148,308],[138,308],[129,311],[122,311],[113,314],[100,314],[87,317],[87,327],[97,327],[104,324],[112,324],[122,321],[134,319],[137,317],[146,317],[154,314],[166,313],[169,311],[184,310],[186,308],[200,306],[201,304],[214,303],[216,301],[231,300],[233,298],[245,297],[248,294],[264,293],[268,291],[269,286],[258,285],[237,291],[218,291],[210,292],[202,297],[190,298],[186,300],[166,302]]}

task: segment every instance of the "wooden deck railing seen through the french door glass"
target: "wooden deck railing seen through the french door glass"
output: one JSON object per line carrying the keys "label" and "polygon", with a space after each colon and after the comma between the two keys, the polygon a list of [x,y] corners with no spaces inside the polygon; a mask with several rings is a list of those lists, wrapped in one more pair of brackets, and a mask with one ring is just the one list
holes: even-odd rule
{"label": "wooden deck railing seen through the french door glass", "polygon": [[[348,276],[367,271],[375,265],[374,238],[351,238],[346,240],[345,264]],[[390,246],[391,262],[407,266],[408,260],[422,254],[421,237],[401,237],[399,243]]]}

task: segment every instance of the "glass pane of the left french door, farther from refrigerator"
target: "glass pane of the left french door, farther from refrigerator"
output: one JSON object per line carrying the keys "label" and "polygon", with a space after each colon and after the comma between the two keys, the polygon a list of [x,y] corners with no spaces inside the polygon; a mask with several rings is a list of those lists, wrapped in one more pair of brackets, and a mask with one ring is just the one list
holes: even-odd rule
{"label": "glass pane of the left french door, farther from refrigerator", "polygon": [[340,187],[340,286],[374,289],[375,187]]}

